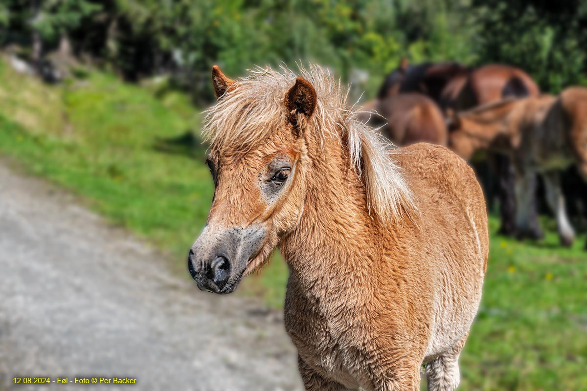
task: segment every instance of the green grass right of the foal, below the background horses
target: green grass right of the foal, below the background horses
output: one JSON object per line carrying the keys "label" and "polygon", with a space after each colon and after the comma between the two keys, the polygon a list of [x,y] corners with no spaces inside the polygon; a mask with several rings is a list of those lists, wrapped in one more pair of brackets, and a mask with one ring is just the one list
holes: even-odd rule
{"label": "green grass right of the foal, below the background horses", "polygon": [[[462,389],[587,390],[587,252],[491,236],[483,301],[461,356]],[[490,221],[491,232],[498,227]],[[582,369],[583,368],[583,369]]]}

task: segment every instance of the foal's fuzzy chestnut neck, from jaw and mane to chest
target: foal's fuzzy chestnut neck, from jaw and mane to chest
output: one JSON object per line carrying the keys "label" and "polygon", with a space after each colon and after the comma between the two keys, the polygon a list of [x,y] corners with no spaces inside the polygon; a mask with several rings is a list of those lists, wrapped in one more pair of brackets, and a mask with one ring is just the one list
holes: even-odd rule
{"label": "foal's fuzzy chestnut neck, from jaw and mane to chest", "polygon": [[308,155],[303,215],[280,248],[292,278],[308,289],[318,280],[322,288],[343,289],[349,273],[363,274],[377,258],[377,225],[369,215],[365,187],[340,142],[325,140],[323,148]]}

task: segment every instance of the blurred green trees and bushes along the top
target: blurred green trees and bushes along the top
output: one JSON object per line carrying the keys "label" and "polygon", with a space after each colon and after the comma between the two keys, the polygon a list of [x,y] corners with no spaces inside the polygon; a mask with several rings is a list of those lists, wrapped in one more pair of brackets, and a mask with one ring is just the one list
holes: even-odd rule
{"label": "blurred green trees and bushes along the top", "polygon": [[[237,76],[255,64],[319,62],[375,90],[403,56],[514,64],[542,89],[586,80],[587,3],[542,0],[6,0],[4,43],[45,50],[68,34],[129,80],[170,73],[200,101],[212,98],[212,64]],[[8,33],[6,33],[8,32]]]}

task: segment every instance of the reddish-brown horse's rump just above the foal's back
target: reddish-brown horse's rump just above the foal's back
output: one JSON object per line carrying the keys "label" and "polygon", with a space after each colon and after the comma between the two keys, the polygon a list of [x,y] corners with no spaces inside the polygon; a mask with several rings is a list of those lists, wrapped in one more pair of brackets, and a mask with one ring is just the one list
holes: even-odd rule
{"label": "reddish-brown horse's rump just above the foal's back", "polygon": [[396,145],[447,144],[444,116],[437,104],[423,94],[395,94],[382,101],[376,99],[367,102],[363,110],[376,113],[361,113],[359,119],[372,127],[381,127],[382,134]]}

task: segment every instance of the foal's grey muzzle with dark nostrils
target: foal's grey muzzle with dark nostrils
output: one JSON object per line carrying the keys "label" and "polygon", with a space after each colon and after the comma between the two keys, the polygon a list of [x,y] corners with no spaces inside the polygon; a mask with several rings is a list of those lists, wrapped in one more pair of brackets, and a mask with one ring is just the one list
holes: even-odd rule
{"label": "foal's grey muzzle with dark nostrils", "polygon": [[220,294],[234,291],[265,237],[266,230],[261,226],[246,229],[206,227],[188,255],[188,270],[198,288]]}

